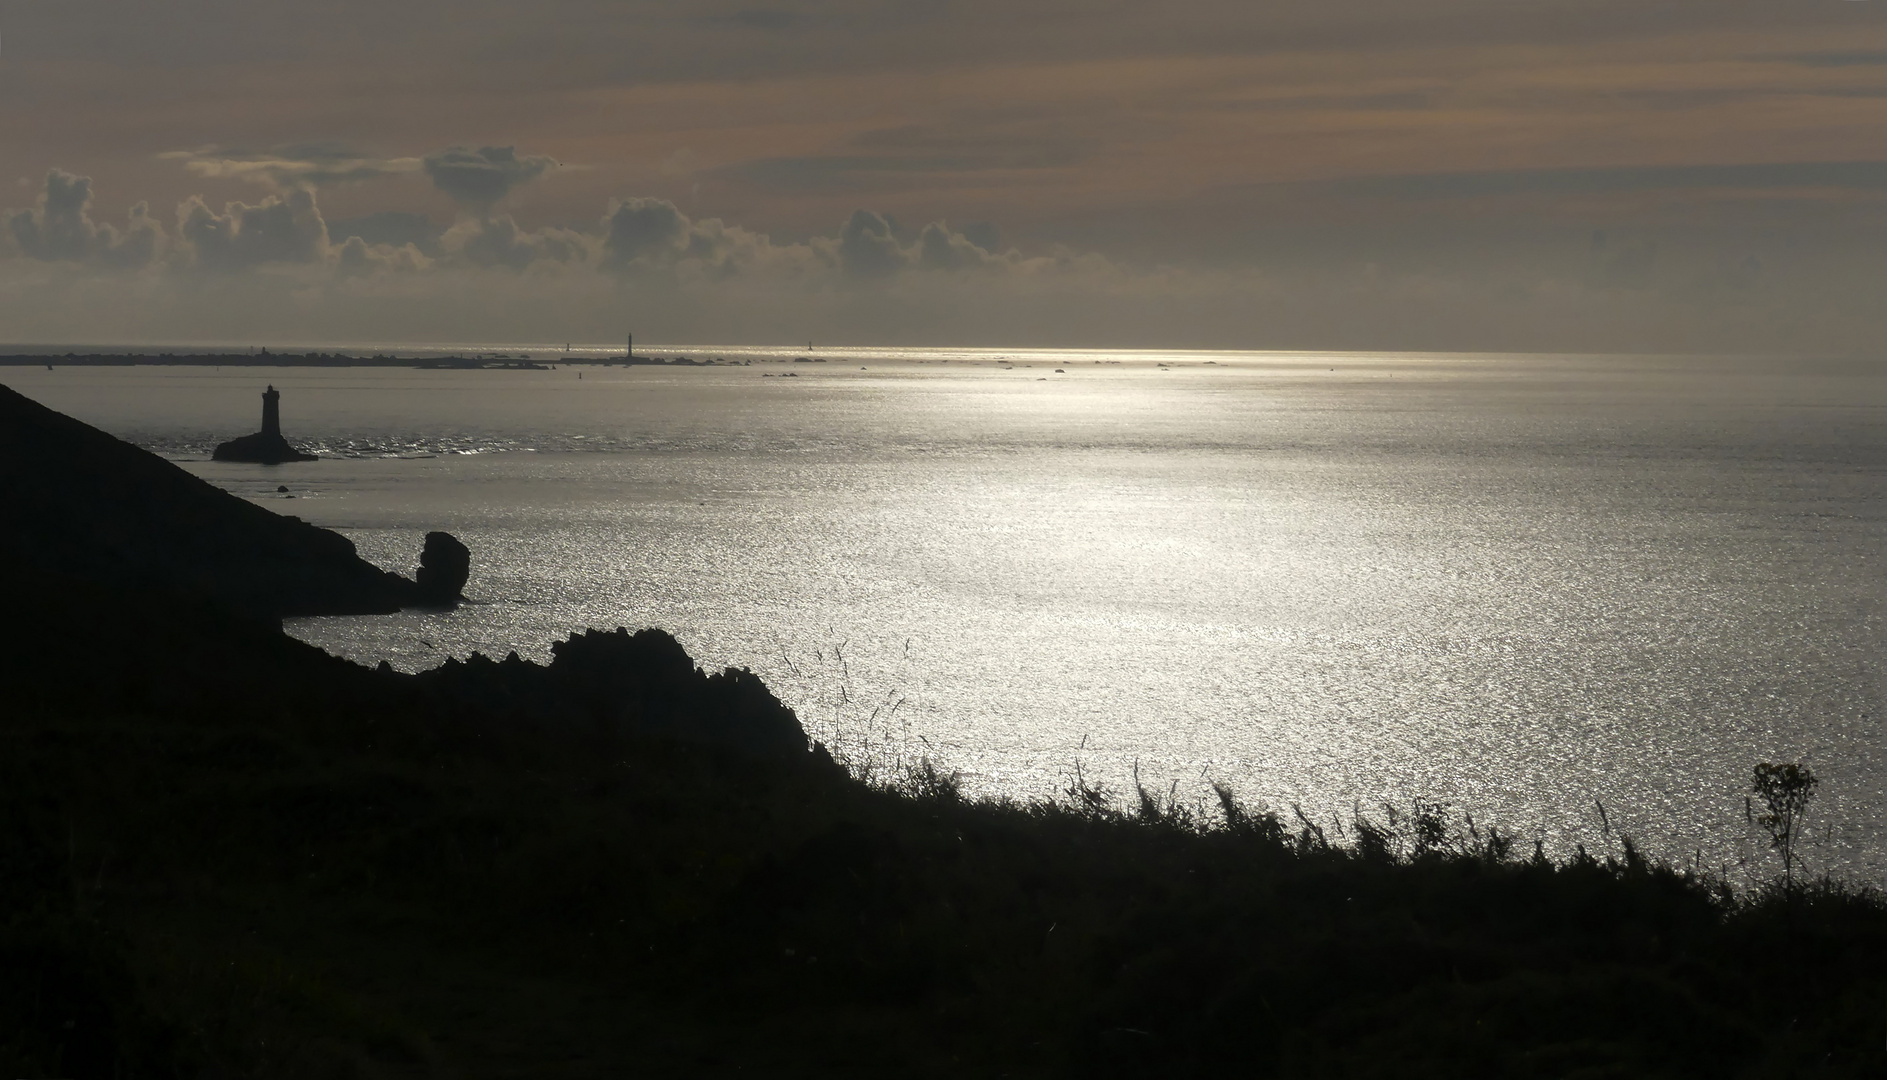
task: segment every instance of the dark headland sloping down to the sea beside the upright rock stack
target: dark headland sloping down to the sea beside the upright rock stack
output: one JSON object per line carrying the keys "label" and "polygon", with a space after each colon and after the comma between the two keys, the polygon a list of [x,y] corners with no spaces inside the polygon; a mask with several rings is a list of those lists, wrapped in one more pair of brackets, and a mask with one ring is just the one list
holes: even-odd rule
{"label": "dark headland sloping down to the sea beside the upright rock stack", "polygon": [[0,563],[13,574],[164,591],[262,619],[426,602],[345,536],[228,495],[8,387],[0,506]]}

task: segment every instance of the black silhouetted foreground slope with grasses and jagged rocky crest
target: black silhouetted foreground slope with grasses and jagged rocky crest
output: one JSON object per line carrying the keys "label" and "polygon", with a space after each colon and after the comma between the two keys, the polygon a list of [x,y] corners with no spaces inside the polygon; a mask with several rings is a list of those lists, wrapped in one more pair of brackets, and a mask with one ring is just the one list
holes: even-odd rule
{"label": "black silhouetted foreground slope with grasses and jagged rocky crest", "polygon": [[1230,795],[870,785],[655,631],[374,672],[30,529],[0,1076],[1887,1071],[1872,895],[1423,806],[1334,846]]}

